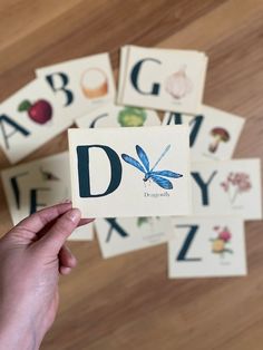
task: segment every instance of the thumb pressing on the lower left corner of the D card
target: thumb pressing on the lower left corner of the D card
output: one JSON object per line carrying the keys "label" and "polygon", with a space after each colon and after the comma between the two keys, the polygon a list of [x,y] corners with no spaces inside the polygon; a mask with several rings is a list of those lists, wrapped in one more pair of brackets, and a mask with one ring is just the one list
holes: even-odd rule
{"label": "thumb pressing on the lower left corner of the D card", "polygon": [[81,213],[77,208],[72,208],[61,215],[49,231],[35,243],[41,250],[45,250],[49,254],[58,254],[67,237],[78,226],[80,222]]}

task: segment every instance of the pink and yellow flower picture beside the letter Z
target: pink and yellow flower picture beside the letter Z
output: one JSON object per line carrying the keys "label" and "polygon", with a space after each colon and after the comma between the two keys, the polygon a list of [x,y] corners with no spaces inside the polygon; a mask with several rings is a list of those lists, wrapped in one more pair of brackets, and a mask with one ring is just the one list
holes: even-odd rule
{"label": "pink and yellow flower picture beside the letter Z", "polygon": [[233,250],[228,247],[231,244],[232,234],[228,227],[215,226],[214,231],[216,233],[215,239],[211,239],[212,242],[212,252],[224,256],[224,253],[233,253]]}

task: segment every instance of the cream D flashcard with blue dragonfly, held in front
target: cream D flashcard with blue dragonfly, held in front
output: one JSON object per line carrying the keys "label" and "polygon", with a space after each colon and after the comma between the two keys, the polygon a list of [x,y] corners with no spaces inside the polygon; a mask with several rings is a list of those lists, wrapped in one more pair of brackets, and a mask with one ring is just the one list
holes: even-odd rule
{"label": "cream D flashcard with blue dragonfly, held in front", "polygon": [[188,126],[69,129],[69,152],[84,217],[189,214]]}

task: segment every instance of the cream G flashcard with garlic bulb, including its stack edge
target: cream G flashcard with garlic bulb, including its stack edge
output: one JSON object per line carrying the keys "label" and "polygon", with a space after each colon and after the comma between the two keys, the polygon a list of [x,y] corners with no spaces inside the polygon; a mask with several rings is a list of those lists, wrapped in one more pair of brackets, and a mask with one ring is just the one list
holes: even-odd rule
{"label": "cream G flashcard with garlic bulb, including its stack edge", "polygon": [[207,67],[204,52],[128,46],[120,54],[119,105],[199,111]]}

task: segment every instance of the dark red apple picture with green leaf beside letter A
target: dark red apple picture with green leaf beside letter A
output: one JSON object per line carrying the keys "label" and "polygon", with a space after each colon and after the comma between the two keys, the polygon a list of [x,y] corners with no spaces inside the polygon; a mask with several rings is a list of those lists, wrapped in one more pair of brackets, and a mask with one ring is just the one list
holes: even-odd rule
{"label": "dark red apple picture with green leaf beside letter A", "polygon": [[18,106],[18,110],[27,110],[29,118],[38,124],[45,124],[52,117],[52,106],[46,99],[39,99],[35,104],[26,99]]}

